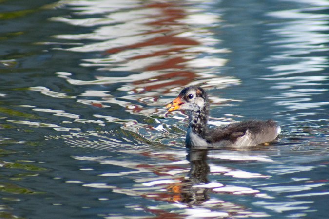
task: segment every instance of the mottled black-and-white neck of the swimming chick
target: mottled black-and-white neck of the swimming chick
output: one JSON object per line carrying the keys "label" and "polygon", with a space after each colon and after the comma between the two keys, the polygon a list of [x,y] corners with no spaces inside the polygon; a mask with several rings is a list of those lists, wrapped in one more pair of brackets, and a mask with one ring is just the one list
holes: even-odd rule
{"label": "mottled black-and-white neck of the swimming chick", "polygon": [[205,131],[206,124],[208,122],[208,109],[204,107],[203,109],[191,112],[189,115],[190,127],[194,133],[202,135]]}

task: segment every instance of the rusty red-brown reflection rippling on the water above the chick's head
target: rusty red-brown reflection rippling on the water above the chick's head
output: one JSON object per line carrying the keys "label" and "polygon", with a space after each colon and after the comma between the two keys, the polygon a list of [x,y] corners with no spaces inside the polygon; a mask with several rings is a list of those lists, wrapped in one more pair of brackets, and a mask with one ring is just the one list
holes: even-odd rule
{"label": "rusty red-brown reflection rippling on the water above the chick's head", "polygon": [[[124,50],[140,49],[143,47],[163,47],[160,50],[149,50],[147,54],[135,55],[130,57],[130,60],[145,59],[150,57],[161,57],[161,62],[150,63],[144,67],[144,71],[161,71],[160,76],[153,76],[150,73],[151,83],[147,80],[133,81],[134,85],[143,87],[145,91],[151,91],[159,88],[170,88],[177,86],[185,86],[192,82],[196,77],[196,73],[191,71],[186,66],[184,56],[190,55],[184,52],[187,48],[200,45],[201,43],[191,37],[180,37],[180,34],[189,31],[186,29],[186,24],[180,20],[187,16],[187,12],[183,7],[180,7],[178,2],[158,2],[145,5],[146,8],[154,8],[160,11],[153,19],[156,21],[147,23],[153,26],[152,31],[146,31],[144,34],[161,33],[160,36],[147,39],[143,42],[138,42],[123,47],[117,47],[106,51],[108,54],[119,53]],[[156,83],[154,81],[156,80]]]}

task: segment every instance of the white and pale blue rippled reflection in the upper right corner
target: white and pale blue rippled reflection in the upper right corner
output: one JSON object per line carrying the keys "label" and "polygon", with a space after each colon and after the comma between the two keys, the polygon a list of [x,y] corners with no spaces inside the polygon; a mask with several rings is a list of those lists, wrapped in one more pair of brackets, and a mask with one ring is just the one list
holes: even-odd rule
{"label": "white and pale blue rippled reflection in the upper right corner", "polygon": [[[298,1],[300,2],[300,1]],[[276,18],[272,23],[271,34],[277,36],[268,42],[277,52],[264,59],[276,63],[268,67],[273,74],[263,76],[272,81],[272,88],[281,90],[280,94],[267,98],[278,99],[276,105],[284,106],[291,113],[290,120],[309,117],[309,112],[296,113],[304,109],[325,110],[329,102],[317,95],[324,96],[329,77],[324,73],[328,68],[328,1],[308,1],[305,9],[268,12]],[[318,7],[318,6],[326,7]],[[312,7],[313,6],[313,7]],[[280,22],[284,20],[284,22]],[[314,101],[319,99],[320,101]],[[287,112],[286,112],[287,113]],[[321,113],[321,111],[318,111]],[[298,118],[297,118],[298,117]]]}

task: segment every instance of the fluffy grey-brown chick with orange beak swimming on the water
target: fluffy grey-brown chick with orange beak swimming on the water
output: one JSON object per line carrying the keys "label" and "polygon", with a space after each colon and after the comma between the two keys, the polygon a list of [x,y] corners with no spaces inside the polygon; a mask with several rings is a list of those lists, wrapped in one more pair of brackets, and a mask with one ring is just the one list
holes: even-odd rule
{"label": "fluffy grey-brown chick with orange beak swimming on the water", "polygon": [[185,110],[189,115],[186,147],[248,147],[273,141],[281,128],[273,120],[248,120],[214,129],[207,127],[209,99],[200,87],[184,88],[166,108]]}

